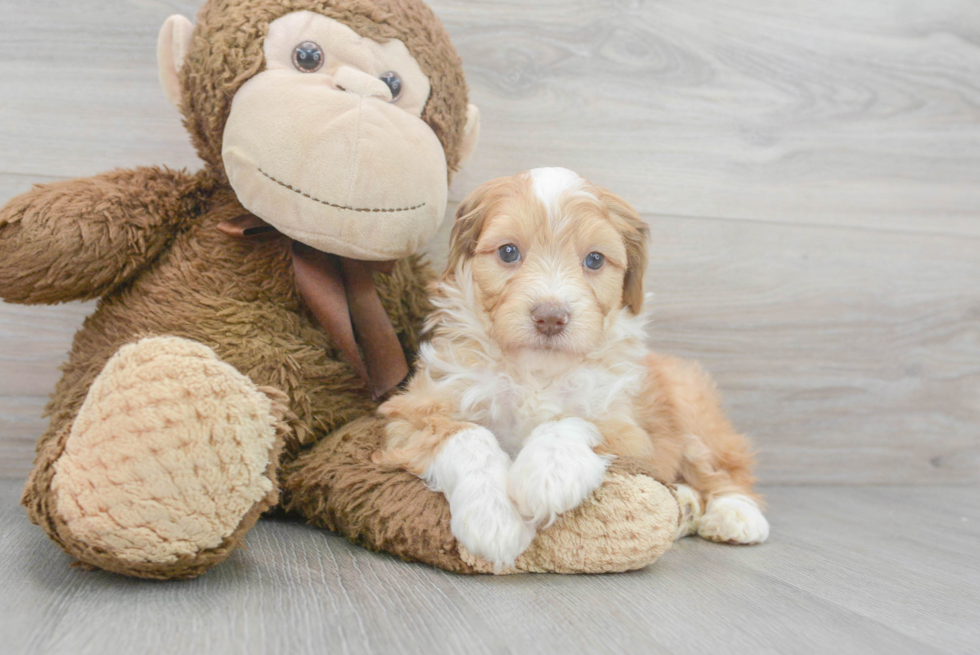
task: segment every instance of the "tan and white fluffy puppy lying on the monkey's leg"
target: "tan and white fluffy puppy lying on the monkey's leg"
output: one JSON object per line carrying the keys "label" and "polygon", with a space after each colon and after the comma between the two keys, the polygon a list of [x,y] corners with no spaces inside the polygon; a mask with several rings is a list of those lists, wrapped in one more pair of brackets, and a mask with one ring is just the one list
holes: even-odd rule
{"label": "tan and white fluffy puppy lying on the monkey's leg", "polygon": [[680,536],[769,534],[747,441],[710,378],[645,346],[646,247],[628,203],[562,168],[487,182],[457,211],[431,340],[380,409],[390,423],[376,459],[444,492],[453,534],[498,566],[617,455],[684,485]]}

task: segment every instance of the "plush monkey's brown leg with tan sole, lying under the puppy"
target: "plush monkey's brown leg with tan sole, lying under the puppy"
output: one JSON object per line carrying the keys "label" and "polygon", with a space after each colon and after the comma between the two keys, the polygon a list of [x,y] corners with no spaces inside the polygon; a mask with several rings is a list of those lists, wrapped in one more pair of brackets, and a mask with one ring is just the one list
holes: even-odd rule
{"label": "plush monkey's brown leg with tan sole, lying under the puppy", "polygon": [[[457,545],[445,496],[410,473],[371,461],[383,434],[382,419],[365,417],[284,465],[283,507],[371,550],[460,573],[491,573],[489,562]],[[648,469],[639,461],[617,460],[590,498],[538,533],[517,558],[516,570],[642,568],[670,547],[678,515],[672,491]]]}

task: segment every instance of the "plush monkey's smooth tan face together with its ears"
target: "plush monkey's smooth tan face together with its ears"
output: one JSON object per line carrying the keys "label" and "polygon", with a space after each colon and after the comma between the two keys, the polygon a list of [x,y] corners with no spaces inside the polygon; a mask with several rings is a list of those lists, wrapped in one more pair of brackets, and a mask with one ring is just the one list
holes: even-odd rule
{"label": "plush monkey's smooth tan face together with its ears", "polygon": [[[161,80],[178,102],[192,29],[173,17],[161,32]],[[389,260],[424,246],[445,213],[447,160],[475,146],[476,108],[453,126],[458,152],[449,157],[445,137],[425,120],[429,77],[406,43],[362,36],[315,11],[271,21],[261,55],[221,136],[224,172],[242,205],[345,257]]]}

